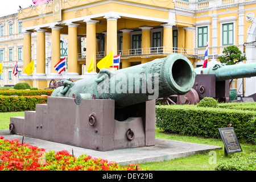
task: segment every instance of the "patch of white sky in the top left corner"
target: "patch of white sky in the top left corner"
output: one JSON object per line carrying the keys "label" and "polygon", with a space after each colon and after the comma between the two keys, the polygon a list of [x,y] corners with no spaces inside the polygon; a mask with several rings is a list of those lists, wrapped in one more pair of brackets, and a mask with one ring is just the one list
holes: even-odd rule
{"label": "patch of white sky in the top left corner", "polygon": [[34,5],[32,0],[0,0],[0,17],[18,13],[19,6],[26,8]]}

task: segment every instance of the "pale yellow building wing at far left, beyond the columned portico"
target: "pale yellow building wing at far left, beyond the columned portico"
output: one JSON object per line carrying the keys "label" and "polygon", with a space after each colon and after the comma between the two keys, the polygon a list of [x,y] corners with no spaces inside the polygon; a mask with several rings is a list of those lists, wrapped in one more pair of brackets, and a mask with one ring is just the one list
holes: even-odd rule
{"label": "pale yellow building wing at far left, beyond the columned portico", "polygon": [[[0,63],[3,65],[0,74],[0,85],[15,85],[21,76],[23,52],[22,21],[18,14],[11,14],[0,18]],[[18,61],[19,72],[13,76],[13,69]]]}

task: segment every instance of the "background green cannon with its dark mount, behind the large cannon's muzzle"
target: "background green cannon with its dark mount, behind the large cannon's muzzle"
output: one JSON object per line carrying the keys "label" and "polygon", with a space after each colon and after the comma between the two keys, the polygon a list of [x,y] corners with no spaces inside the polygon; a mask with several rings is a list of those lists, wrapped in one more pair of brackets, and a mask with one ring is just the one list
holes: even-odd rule
{"label": "background green cannon with its dark mount, behind the large cannon's muzzle", "polygon": [[195,72],[195,85],[188,93],[178,96],[176,104],[196,104],[204,97],[213,97],[219,102],[229,102],[229,81],[256,76],[256,63],[216,64],[209,68],[195,68]]}

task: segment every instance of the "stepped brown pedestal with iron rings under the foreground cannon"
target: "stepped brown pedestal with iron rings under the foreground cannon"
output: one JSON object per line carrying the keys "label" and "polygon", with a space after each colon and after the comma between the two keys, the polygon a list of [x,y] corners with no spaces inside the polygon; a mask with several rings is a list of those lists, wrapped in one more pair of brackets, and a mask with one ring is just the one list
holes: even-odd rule
{"label": "stepped brown pedestal with iron rings under the foreground cannon", "polygon": [[155,144],[154,100],[122,110],[115,110],[114,100],[76,105],[74,98],[48,97],[47,102],[25,111],[24,117],[11,117],[11,132],[98,151]]}

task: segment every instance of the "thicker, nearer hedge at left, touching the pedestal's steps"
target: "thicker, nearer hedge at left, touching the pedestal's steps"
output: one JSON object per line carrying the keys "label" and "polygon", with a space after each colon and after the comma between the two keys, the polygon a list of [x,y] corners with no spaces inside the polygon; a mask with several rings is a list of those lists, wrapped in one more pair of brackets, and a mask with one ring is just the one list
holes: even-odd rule
{"label": "thicker, nearer hedge at left, touching the pedestal's steps", "polygon": [[47,104],[48,96],[1,96],[0,112],[35,110],[36,104]]}

